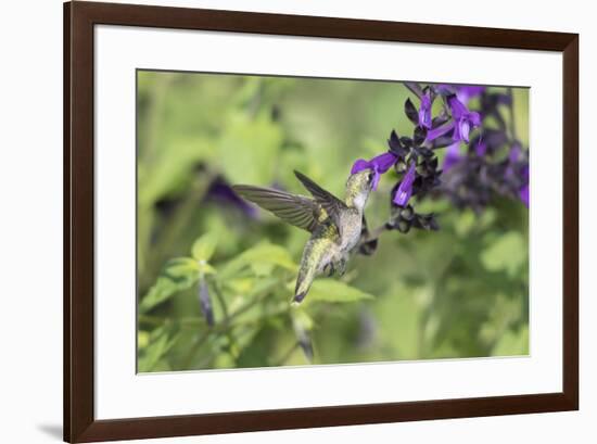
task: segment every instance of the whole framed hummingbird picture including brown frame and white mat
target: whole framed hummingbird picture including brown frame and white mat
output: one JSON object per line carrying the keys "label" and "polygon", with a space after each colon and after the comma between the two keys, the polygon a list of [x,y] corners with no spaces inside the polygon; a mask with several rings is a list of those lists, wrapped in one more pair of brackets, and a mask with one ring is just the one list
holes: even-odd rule
{"label": "whole framed hummingbird picture including brown frame and white mat", "polygon": [[577,34],[63,12],[65,441],[579,408]]}

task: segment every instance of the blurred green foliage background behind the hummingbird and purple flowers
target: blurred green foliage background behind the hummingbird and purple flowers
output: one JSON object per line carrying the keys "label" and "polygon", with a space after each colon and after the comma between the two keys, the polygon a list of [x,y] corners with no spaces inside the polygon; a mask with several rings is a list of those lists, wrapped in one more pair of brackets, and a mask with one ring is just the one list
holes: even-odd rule
{"label": "blurred green foliage background behind the hummingbird and purple flowers", "polygon": [[[138,369],[526,354],[528,210],[477,215],[434,200],[440,231],[383,233],[373,256],[290,300],[308,233],[212,199],[215,179],[305,194],[298,169],[343,196],[351,165],[411,131],[399,83],[138,72]],[[528,144],[528,90],[515,90]],[[369,200],[389,214],[390,172]],[[207,286],[208,326],[198,286]],[[313,356],[312,356],[313,353]]]}

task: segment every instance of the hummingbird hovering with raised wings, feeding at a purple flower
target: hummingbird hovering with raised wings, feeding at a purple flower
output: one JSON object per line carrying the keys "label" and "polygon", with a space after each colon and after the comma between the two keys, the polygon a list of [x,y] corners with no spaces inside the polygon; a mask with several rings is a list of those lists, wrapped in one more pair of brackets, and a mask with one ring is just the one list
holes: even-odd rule
{"label": "hummingbird hovering with raised wings, feeding at a purple flower", "polygon": [[304,174],[296,178],[310,193],[292,194],[271,188],[234,185],[232,189],[295,227],[310,232],[305,244],[292,302],[300,304],[314,279],[335,271],[342,276],[353,252],[357,250],[364,228],[364,210],[373,187],[374,173],[363,169],[348,177],[344,200],[325,190]]}

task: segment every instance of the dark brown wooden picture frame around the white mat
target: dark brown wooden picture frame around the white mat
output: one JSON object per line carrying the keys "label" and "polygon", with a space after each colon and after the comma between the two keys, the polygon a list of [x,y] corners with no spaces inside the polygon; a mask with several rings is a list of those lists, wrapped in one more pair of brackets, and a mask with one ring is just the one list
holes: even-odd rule
{"label": "dark brown wooden picture frame around the white mat", "polygon": [[[116,420],[94,418],[93,27],[156,28],[558,51],[563,54],[562,392]],[[94,2],[64,4],[64,440],[180,436],[579,408],[579,36]]]}

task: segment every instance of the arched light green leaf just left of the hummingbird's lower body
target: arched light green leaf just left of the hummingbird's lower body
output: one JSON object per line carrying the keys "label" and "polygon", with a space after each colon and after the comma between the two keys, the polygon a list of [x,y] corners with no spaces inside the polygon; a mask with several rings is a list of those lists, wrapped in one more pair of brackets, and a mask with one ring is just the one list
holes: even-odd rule
{"label": "arched light green leaf just left of the hummingbird's lower body", "polygon": [[262,271],[263,267],[268,264],[292,271],[296,270],[296,264],[292,261],[289,252],[279,245],[263,242],[252,249],[245,250],[227,263],[220,270],[220,278],[233,278],[246,267]]}

